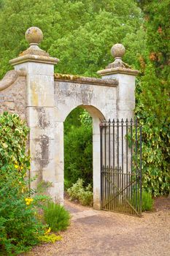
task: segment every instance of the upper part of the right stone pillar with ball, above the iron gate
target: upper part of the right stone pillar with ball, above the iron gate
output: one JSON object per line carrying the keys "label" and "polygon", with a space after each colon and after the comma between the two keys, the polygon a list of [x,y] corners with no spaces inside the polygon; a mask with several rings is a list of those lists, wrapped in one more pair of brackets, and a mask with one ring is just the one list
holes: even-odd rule
{"label": "upper part of the right stone pillar with ball, above the iron gate", "polygon": [[111,116],[110,118],[134,118],[135,108],[135,77],[139,71],[131,69],[128,64],[122,61],[122,57],[125,54],[125,48],[121,44],[112,46],[112,56],[115,61],[109,64],[106,69],[99,70],[97,73],[101,75],[103,79],[118,80],[117,86],[117,116]]}

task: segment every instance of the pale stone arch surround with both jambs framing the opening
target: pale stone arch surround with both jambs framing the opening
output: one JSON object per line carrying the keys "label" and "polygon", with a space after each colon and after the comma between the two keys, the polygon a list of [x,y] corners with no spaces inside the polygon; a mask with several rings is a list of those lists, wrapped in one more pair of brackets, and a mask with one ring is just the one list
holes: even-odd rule
{"label": "pale stone arch surround with both jambs framing the opening", "polygon": [[[104,114],[101,113],[93,105],[77,105],[77,107],[84,108],[90,113],[93,119],[93,207],[100,209],[101,202],[101,174],[100,174],[100,128],[99,124],[101,121],[105,120]],[[63,180],[64,180],[64,143],[63,143],[63,122],[69,113],[72,112],[72,108],[66,108],[65,113],[63,113],[63,118],[58,121],[58,127],[56,134],[56,148],[59,148],[57,152],[57,162],[56,162],[56,173],[58,173],[58,192],[56,193],[57,200],[63,203]],[[58,139],[57,139],[58,138]]]}

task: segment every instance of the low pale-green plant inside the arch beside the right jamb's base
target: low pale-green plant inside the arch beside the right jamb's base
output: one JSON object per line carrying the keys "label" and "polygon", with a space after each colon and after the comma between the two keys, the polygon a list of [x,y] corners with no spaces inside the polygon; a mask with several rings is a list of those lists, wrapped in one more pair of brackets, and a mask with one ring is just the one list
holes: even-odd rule
{"label": "low pale-green plant inside the arch beside the right jamb's base", "polygon": [[72,185],[67,192],[71,200],[79,200],[82,206],[93,206],[93,192],[91,184],[83,187],[84,181],[79,178],[75,184]]}

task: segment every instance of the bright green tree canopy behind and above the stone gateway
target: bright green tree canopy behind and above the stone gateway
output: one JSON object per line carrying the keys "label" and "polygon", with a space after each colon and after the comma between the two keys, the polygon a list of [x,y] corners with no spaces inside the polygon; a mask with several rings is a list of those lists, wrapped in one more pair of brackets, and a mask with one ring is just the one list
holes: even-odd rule
{"label": "bright green tree canopy behind and above the stone gateway", "polygon": [[2,0],[0,77],[12,68],[9,59],[28,47],[30,26],[42,29],[41,47],[61,60],[57,72],[96,76],[112,62],[109,50],[117,42],[128,48],[125,61],[138,64],[145,41],[141,18],[134,0]]}

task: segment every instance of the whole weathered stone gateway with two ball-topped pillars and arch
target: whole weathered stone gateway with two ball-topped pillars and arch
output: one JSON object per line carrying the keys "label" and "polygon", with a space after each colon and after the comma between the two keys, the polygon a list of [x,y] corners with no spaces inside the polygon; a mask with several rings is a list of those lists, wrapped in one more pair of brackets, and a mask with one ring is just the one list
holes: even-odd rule
{"label": "whole weathered stone gateway with two ball-topped pillars and arch", "polygon": [[93,207],[101,208],[100,128],[109,118],[133,118],[137,70],[122,61],[125,48],[112,47],[115,58],[101,78],[85,78],[54,73],[58,59],[39,48],[43,35],[39,28],[26,31],[30,47],[10,64],[14,70],[0,81],[1,112],[18,113],[30,127],[31,177],[50,181],[48,193],[63,203],[63,122],[78,106],[93,118]]}

